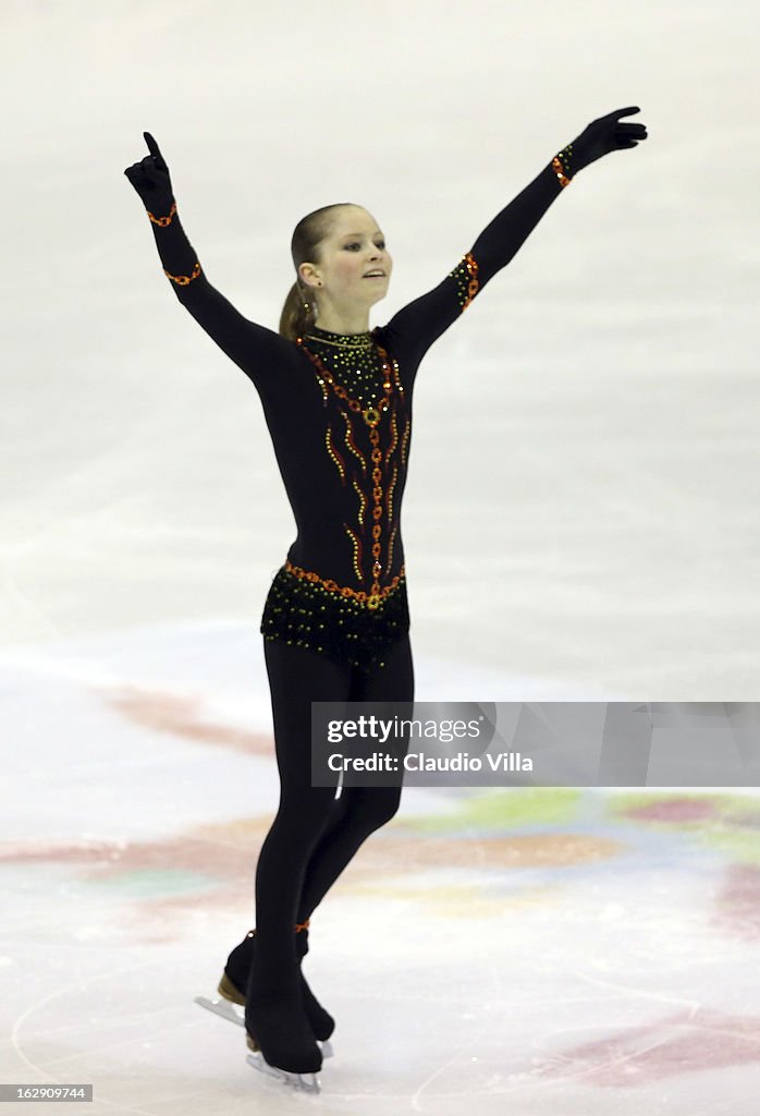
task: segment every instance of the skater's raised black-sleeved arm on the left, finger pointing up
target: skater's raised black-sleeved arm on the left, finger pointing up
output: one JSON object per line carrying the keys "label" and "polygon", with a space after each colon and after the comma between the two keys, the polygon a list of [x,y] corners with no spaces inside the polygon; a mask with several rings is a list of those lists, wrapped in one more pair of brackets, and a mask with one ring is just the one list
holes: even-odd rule
{"label": "skater's raised black-sleeved arm on the left, finger pointing up", "polygon": [[277,358],[282,359],[285,350],[290,355],[292,346],[274,330],[244,318],[208,282],[179,222],[168,167],[158,144],[149,132],[143,135],[150,154],[124,173],[145,205],[164,275],[208,336],[257,387],[265,387],[265,377],[273,375]]}

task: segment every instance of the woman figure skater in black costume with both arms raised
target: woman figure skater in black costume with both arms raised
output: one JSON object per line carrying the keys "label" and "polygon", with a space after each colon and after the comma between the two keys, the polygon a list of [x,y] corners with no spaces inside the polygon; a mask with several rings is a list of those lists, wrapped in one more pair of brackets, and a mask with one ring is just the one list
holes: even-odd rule
{"label": "woman figure skater in black costume with both arms raised", "polygon": [[[149,155],[125,174],[143,200],[179,301],[251,378],[264,410],[298,538],[277,571],[261,632],[280,805],[256,866],[256,931],[230,954],[223,995],[245,1003],[249,1046],[292,1084],[322,1065],[334,1021],[301,972],[309,918],[360,845],[396,814],[398,787],[311,785],[311,702],[392,701],[409,715],[413,668],[400,533],[411,403],[420,360],[515,256],[579,170],[635,147],[637,107],[593,121],[487,225],[432,290],[369,329],[392,267],[359,205],[303,218],[296,280],[279,333],[244,318],[207,280],[177,215],[168,169]],[[315,1087],[314,1085],[311,1086]]]}

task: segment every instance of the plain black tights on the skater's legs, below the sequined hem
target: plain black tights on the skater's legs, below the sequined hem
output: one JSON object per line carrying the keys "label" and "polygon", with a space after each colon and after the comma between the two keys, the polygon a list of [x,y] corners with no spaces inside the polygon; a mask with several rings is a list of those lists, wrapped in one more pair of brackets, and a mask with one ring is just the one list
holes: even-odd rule
{"label": "plain black tights on the skater's legs, below the sequined hem", "polygon": [[[410,718],[415,673],[409,635],[371,674],[281,639],[264,641],[272,695],[280,806],[256,866],[256,935],[269,963],[294,956],[296,922],[310,917],[362,843],[399,808],[393,787],[311,785],[311,702],[392,701]],[[368,712],[370,712],[368,710]],[[400,754],[403,754],[401,748]],[[338,773],[335,773],[335,786]]]}

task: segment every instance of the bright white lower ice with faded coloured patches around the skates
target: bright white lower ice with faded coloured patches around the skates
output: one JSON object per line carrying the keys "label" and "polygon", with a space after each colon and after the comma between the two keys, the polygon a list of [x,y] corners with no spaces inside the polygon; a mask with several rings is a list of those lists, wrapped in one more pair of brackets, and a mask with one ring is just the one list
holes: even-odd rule
{"label": "bright white lower ice with faded coloured patches around the skates", "polygon": [[[74,1110],[104,1116],[303,1101],[193,1003],[255,922],[276,808],[257,646],[196,624],[6,648],[2,1080],[92,1083]],[[440,685],[433,661],[419,676]],[[338,1020],[320,1103],[750,1116],[759,808],[406,789],[312,917],[306,972]]]}

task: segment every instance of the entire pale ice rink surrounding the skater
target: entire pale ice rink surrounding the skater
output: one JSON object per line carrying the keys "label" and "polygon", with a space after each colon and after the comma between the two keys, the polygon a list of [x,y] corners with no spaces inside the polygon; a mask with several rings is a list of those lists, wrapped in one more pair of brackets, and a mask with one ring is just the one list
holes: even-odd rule
{"label": "entire pale ice rink surrounding the skater", "polygon": [[0,1083],[91,1083],[75,1116],[756,1116],[754,788],[407,789],[312,917],[319,1096],[193,1003],[255,923],[259,622],[295,532],[123,172],[152,132],[210,280],[270,328],[296,221],[366,205],[373,326],[640,106],[647,141],[420,367],[417,699],[757,701],[759,29],[683,0],[2,4]]}

